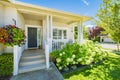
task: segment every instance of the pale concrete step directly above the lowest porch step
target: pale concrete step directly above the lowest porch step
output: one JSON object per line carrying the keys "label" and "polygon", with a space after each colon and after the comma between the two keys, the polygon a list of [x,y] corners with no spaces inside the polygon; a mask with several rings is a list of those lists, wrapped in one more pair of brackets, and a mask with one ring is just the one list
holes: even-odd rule
{"label": "pale concrete step directly above the lowest porch step", "polygon": [[45,58],[29,58],[29,59],[21,59],[20,61],[20,66],[26,66],[26,65],[32,65],[32,64],[40,64],[40,63],[43,63],[45,62]]}

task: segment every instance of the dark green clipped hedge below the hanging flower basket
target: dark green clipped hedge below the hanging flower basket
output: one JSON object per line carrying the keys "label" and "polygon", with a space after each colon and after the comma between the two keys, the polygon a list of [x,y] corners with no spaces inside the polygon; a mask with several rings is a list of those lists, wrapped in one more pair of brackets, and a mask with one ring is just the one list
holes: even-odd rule
{"label": "dark green clipped hedge below the hanging flower basket", "polygon": [[10,76],[13,72],[13,54],[0,55],[0,77]]}

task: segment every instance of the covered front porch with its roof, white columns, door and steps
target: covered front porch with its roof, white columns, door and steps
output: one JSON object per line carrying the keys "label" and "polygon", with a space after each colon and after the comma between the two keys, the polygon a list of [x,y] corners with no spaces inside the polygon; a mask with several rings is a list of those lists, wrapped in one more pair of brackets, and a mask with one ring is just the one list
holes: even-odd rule
{"label": "covered front porch with its roof, white columns, door and steps", "polygon": [[[49,68],[49,53],[61,49],[68,42],[75,42],[75,26],[78,27],[78,42],[82,43],[82,23],[89,18],[34,5],[23,5],[21,3],[17,3],[16,8],[18,14],[17,20],[19,22],[16,25],[25,30],[26,42],[20,47],[14,46],[14,75],[35,70],[35,68],[24,70],[24,68],[27,69],[28,67],[27,61],[32,64],[36,63],[33,60],[34,58],[23,59],[25,55],[32,55],[33,57],[38,54],[39,56],[40,54],[44,55],[44,68]],[[40,61],[41,57],[38,59]],[[29,67],[33,67],[32,64]],[[40,66],[37,69],[40,69]]]}

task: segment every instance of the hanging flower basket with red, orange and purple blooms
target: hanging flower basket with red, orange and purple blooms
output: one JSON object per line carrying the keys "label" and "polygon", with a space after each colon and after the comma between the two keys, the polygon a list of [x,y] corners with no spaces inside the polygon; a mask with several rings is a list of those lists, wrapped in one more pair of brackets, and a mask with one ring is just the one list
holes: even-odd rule
{"label": "hanging flower basket with red, orange and purple blooms", "polygon": [[7,46],[24,44],[25,34],[24,31],[15,25],[6,25],[0,28],[0,43]]}

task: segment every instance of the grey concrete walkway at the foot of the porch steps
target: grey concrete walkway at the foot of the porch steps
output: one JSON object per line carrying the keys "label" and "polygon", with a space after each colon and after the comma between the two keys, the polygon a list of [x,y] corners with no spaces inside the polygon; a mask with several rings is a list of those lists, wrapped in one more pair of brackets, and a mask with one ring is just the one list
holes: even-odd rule
{"label": "grey concrete walkway at the foot of the porch steps", "polygon": [[18,74],[17,76],[13,76],[10,80],[64,80],[64,78],[57,70],[56,66],[51,63],[49,69]]}

